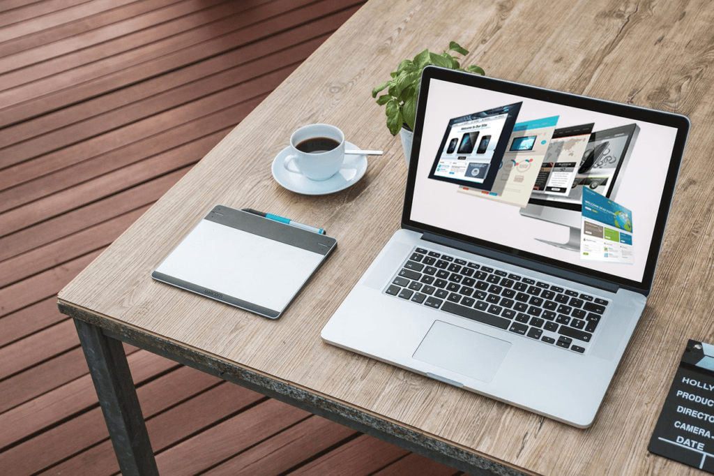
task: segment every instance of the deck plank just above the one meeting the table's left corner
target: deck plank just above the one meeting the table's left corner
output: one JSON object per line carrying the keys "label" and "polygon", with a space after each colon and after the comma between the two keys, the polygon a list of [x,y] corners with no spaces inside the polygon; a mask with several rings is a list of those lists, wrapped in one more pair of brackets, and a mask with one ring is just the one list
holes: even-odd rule
{"label": "deck plank just above the one meeting the table's left corner", "polygon": [[85,254],[59,267],[0,289],[0,317],[18,309],[54,296],[69,283],[87,264],[99,256],[101,250]]}

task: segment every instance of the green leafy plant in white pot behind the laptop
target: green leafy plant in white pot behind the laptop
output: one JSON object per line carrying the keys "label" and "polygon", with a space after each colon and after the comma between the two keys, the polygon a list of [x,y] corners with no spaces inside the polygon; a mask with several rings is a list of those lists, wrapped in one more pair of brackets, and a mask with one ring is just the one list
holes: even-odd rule
{"label": "green leafy plant in white pot behind the laptop", "polygon": [[[459,46],[456,41],[451,41],[448,51],[454,51],[466,56],[468,51]],[[386,81],[372,89],[372,97],[387,89],[387,94],[382,94],[377,98],[377,104],[385,106],[387,114],[387,127],[393,136],[399,134],[404,149],[404,157],[407,167],[409,166],[409,156],[411,155],[411,141],[414,130],[414,119],[416,116],[416,100],[419,93],[419,81],[421,80],[421,70],[429,65],[441,66],[442,68],[456,69],[457,71],[469,71],[471,73],[485,75],[486,73],[479,66],[461,67],[458,59],[444,51],[441,54],[432,53],[425,49],[414,59],[402,61],[396,71],[392,71],[392,79]]]}

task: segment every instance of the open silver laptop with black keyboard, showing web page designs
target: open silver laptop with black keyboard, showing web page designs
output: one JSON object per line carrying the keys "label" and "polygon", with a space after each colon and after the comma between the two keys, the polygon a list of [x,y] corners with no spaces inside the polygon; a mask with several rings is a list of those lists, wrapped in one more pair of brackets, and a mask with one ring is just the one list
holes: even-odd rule
{"label": "open silver laptop with black keyboard, showing web page designs", "polygon": [[689,120],[433,66],[416,118],[401,229],[322,338],[592,425],[652,287]]}

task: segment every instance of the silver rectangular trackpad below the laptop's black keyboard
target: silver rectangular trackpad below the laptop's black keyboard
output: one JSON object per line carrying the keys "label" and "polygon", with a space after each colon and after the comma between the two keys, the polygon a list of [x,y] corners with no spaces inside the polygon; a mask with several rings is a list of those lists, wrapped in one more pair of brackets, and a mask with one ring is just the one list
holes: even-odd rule
{"label": "silver rectangular trackpad below the laptop's black keyboard", "polygon": [[491,382],[511,342],[435,321],[413,357],[428,364]]}

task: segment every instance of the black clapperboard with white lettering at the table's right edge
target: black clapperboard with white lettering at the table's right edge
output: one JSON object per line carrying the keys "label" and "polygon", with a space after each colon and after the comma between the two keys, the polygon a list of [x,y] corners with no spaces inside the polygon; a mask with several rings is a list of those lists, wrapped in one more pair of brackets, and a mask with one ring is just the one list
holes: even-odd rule
{"label": "black clapperboard with white lettering at the table's right edge", "polygon": [[648,450],[714,474],[714,345],[688,342]]}

